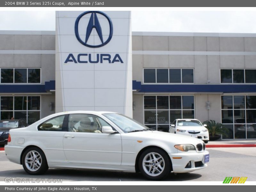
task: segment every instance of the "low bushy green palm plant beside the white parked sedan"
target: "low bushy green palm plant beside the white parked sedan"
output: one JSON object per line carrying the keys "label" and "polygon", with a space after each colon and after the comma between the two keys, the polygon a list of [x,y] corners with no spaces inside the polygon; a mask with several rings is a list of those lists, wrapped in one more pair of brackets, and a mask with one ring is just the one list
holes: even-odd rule
{"label": "low bushy green palm plant beside the white parked sedan", "polygon": [[210,121],[204,121],[203,124],[207,124],[207,129],[209,131],[209,134],[212,134],[212,137],[215,135],[225,135],[228,136],[228,129],[225,127],[225,125],[221,123],[216,123],[215,120]]}

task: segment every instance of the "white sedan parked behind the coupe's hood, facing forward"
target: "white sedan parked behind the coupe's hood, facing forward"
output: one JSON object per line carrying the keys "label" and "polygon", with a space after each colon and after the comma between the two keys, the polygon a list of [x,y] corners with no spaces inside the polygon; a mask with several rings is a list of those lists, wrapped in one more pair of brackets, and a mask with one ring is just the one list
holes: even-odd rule
{"label": "white sedan parked behind the coupe's hood, facing forward", "polygon": [[206,124],[203,125],[197,119],[175,119],[172,122],[169,132],[195,137],[208,143],[209,132],[205,128],[206,126]]}

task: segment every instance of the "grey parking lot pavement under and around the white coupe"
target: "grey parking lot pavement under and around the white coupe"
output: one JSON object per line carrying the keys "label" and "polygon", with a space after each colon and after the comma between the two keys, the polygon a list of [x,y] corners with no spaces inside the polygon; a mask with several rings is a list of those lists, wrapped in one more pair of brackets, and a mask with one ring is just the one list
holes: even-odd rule
{"label": "grey parking lot pavement under and around the white coupe", "polygon": [[[210,148],[208,167],[174,175],[171,173],[165,181],[223,181],[225,177],[248,177],[247,181],[256,181],[256,150],[243,148]],[[252,171],[253,170],[253,171]],[[20,179],[62,179],[63,181],[144,181],[140,173],[126,173],[96,170],[49,169],[44,175],[31,176],[22,165],[8,161],[4,151],[0,151],[0,181],[6,177]]]}

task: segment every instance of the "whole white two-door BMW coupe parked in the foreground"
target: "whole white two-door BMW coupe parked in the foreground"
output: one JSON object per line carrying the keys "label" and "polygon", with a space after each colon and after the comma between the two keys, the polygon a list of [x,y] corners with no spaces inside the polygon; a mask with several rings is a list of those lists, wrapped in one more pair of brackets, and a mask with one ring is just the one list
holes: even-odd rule
{"label": "whole white two-door BMW coupe parked in the foreground", "polygon": [[159,132],[113,112],[70,111],[10,130],[7,158],[29,174],[50,168],[141,172],[160,180],[171,171],[205,168],[204,141]]}

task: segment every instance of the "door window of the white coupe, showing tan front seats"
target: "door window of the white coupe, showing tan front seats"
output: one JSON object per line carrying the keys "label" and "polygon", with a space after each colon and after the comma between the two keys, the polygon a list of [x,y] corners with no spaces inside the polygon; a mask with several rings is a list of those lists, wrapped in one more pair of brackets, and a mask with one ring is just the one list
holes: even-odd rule
{"label": "door window of the white coupe, showing tan front seats", "polygon": [[[104,122],[103,119],[101,119]],[[108,124],[105,122],[104,124]],[[68,117],[68,131],[101,133],[99,117],[91,114],[70,114]],[[107,125],[109,126],[109,125]]]}

